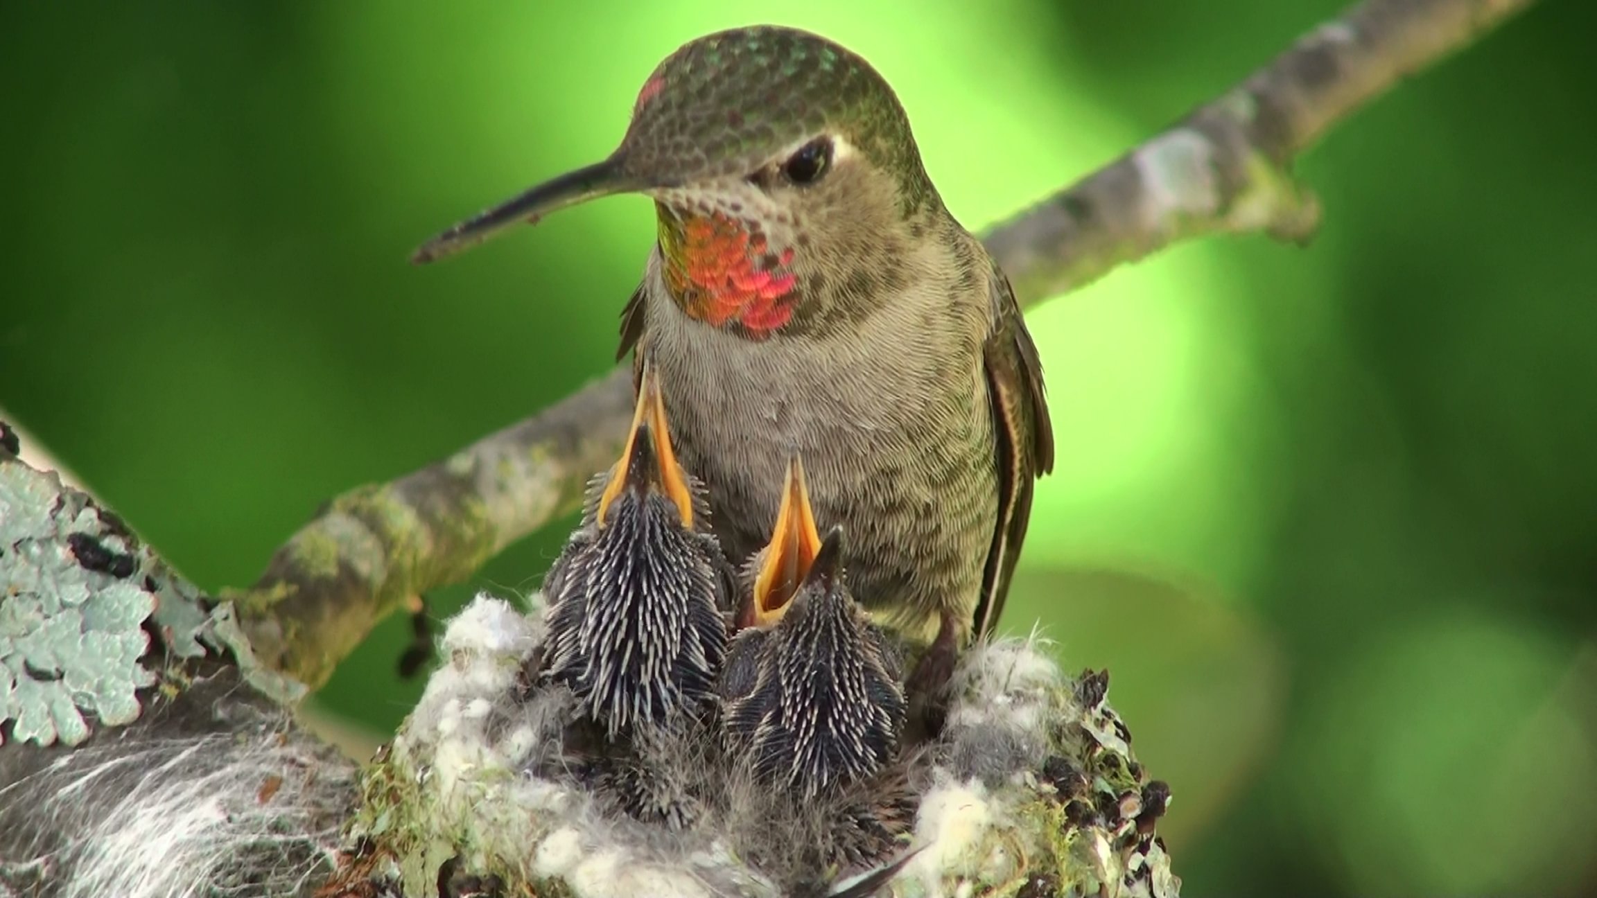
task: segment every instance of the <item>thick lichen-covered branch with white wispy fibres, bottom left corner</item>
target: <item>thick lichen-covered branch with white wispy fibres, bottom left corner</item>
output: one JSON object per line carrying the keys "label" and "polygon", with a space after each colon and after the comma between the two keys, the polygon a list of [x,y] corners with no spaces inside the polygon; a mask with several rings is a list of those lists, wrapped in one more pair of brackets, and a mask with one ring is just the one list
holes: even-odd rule
{"label": "thick lichen-covered branch with white wispy fibres, bottom left corner", "polygon": [[299,895],[340,863],[355,764],[303,687],[0,422],[0,896]]}

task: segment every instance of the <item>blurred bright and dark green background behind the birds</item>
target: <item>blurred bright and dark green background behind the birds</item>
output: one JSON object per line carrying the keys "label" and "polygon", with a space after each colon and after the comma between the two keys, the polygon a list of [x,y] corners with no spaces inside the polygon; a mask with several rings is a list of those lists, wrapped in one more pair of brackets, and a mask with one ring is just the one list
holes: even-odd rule
{"label": "blurred bright and dark green background behind the birds", "polygon": [[[0,5],[0,407],[206,588],[319,502],[610,368],[647,200],[412,268],[607,153],[679,43],[872,59],[984,227],[1313,0]],[[1108,666],[1187,895],[1597,888],[1597,8],[1544,3],[1302,163],[1310,249],[1183,244],[1030,316],[1057,473],[1006,623]],[[565,523],[468,586],[533,588]],[[391,729],[390,620],[323,692]]]}

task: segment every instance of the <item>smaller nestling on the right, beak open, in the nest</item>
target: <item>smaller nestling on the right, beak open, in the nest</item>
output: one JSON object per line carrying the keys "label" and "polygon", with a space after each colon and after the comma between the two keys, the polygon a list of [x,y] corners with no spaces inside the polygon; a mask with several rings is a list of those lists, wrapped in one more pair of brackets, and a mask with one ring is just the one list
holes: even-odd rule
{"label": "smaller nestling on the right, beak open, in the nest", "polygon": [[842,529],[816,532],[795,457],[720,697],[730,754],[802,802],[875,775],[904,727],[899,658],[850,594],[842,558]]}

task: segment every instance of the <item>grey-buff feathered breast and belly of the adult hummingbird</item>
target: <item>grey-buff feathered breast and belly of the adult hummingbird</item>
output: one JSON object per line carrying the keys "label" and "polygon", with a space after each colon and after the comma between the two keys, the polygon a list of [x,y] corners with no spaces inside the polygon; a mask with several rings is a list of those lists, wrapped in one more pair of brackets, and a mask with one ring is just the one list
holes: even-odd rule
{"label": "grey-buff feathered breast and belly of the adult hummingbird", "polygon": [[910,633],[939,612],[969,617],[998,478],[982,360],[990,300],[985,283],[966,281],[910,283],[843,329],[751,340],[685,315],[652,260],[642,352],[733,564],[768,542],[798,454],[816,524],[848,534],[862,604]]}

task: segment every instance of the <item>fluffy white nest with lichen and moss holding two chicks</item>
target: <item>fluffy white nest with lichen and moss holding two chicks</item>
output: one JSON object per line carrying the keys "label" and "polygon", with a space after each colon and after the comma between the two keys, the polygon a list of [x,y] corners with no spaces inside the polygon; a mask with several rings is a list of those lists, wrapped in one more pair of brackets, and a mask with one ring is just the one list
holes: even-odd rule
{"label": "fluffy white nest with lichen and moss holding two chicks", "polygon": [[[369,882],[404,895],[794,895],[797,848],[830,820],[771,813],[768,788],[733,767],[712,805],[676,829],[631,818],[570,775],[573,697],[533,689],[546,626],[479,594],[447,626],[446,663],[366,778],[355,836]],[[890,864],[810,871],[824,893],[890,869],[878,895],[1175,896],[1155,823],[1169,788],[1131,753],[1105,703],[1107,673],[1064,676],[1048,641],[966,650],[942,732],[909,756],[912,824]],[[656,777],[715,761],[690,748]],[[794,805],[786,805],[794,807]],[[824,820],[822,820],[824,818]]]}

